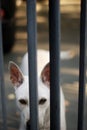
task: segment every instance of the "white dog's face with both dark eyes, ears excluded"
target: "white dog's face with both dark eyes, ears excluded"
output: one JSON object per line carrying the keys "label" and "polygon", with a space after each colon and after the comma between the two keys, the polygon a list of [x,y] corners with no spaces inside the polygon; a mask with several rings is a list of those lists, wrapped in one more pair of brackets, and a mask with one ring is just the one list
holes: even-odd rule
{"label": "white dog's face with both dark eyes, ears excluded", "polygon": [[[20,87],[15,89],[17,105],[22,112],[24,123],[26,124],[30,120],[30,101],[29,101],[29,89],[28,78],[24,77],[24,82]],[[44,118],[49,107],[49,88],[46,87],[42,81],[38,80],[38,117],[39,126],[44,125]]]}

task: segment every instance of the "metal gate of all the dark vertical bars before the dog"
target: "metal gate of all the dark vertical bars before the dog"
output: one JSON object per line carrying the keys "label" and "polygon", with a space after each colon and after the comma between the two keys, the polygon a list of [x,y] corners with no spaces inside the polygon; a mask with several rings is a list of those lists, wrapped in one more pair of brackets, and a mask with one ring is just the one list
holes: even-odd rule
{"label": "metal gate of all the dark vertical bars before the dog", "polygon": [[[30,61],[29,62],[29,71],[30,71],[29,84],[31,86],[30,87],[31,130],[38,130],[37,71],[36,71],[37,65],[35,64],[37,62],[36,61],[36,48],[37,48],[36,0],[27,0],[27,24],[28,24],[27,29],[28,29],[28,52],[29,52],[28,59]],[[7,130],[1,28],[2,25],[0,20],[0,92],[1,92],[1,101],[2,101],[1,104],[2,104],[2,115],[3,115],[3,129]],[[60,130],[60,116],[59,116],[60,115],[59,114],[60,113],[60,106],[59,106],[60,83],[58,82],[60,79],[60,33],[61,33],[60,32],[60,1],[49,0],[49,44],[50,44],[50,68],[51,68],[50,129],[51,130]],[[79,101],[78,101],[77,130],[83,130],[83,123],[84,123],[83,115],[84,115],[85,77],[86,77],[86,67],[85,67],[86,44],[87,44],[86,37],[87,37],[87,0],[81,0]],[[34,70],[34,72],[31,71],[32,70],[31,68]],[[56,87],[54,87],[54,85],[56,85]]]}

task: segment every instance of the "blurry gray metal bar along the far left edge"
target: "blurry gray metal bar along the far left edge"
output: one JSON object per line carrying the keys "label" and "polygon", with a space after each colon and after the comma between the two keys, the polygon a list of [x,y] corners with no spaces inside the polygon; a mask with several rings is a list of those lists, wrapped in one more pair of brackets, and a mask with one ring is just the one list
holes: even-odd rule
{"label": "blurry gray metal bar along the far left edge", "polygon": [[[0,0],[0,8],[1,8],[1,0]],[[0,89],[1,89],[1,102],[2,102],[2,115],[3,115],[3,129],[7,130],[7,113],[6,113],[3,64],[4,62],[3,62],[3,47],[2,47],[2,22],[0,17]]]}

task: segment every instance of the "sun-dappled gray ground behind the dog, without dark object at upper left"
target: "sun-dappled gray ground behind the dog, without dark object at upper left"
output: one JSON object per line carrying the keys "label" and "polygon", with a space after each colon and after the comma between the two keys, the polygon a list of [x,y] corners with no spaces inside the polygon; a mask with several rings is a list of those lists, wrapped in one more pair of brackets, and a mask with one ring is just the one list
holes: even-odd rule
{"label": "sun-dappled gray ground behind the dog, without dark object at upper left", "polygon": [[[63,1],[63,0],[62,0]],[[61,84],[66,98],[67,130],[77,130],[78,111],[78,78],[79,78],[79,0],[61,6],[61,50],[70,50],[71,59],[61,61]],[[70,3],[70,4],[69,4]],[[21,63],[22,56],[27,51],[26,33],[26,5],[22,3],[17,7],[15,46],[12,52],[4,57],[5,61],[5,89],[7,102],[8,130],[17,130],[19,127],[19,113],[16,108],[14,89],[9,80],[8,62]],[[48,7],[47,2],[37,4],[38,48],[48,49]],[[87,55],[87,54],[86,54]],[[87,81],[87,80],[86,80]],[[1,100],[0,100],[1,101]],[[84,130],[87,130],[87,92],[84,114]],[[1,129],[0,105],[0,129]]]}

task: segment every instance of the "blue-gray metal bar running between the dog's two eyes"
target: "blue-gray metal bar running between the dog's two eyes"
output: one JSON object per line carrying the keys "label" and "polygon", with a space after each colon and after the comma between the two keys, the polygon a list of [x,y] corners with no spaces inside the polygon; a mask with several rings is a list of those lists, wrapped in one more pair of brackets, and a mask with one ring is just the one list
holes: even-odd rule
{"label": "blue-gray metal bar running between the dog's two eyes", "polygon": [[29,53],[30,129],[38,130],[36,0],[27,0],[27,24]]}

